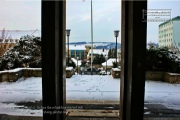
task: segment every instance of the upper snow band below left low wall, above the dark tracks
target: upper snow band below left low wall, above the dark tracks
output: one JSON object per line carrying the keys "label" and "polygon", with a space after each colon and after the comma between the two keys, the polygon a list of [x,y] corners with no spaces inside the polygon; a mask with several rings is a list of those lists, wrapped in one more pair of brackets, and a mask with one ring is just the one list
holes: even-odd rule
{"label": "upper snow band below left low wall, above the dark tracks", "polygon": [[0,102],[42,100],[42,78],[20,78],[17,82],[0,83]]}

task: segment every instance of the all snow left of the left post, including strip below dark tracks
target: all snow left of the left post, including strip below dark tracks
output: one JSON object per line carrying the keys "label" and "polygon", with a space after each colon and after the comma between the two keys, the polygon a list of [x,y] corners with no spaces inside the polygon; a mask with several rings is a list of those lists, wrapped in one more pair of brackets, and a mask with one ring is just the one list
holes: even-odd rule
{"label": "all snow left of the left post, including strip below dark tracks", "polygon": [[[0,83],[0,114],[42,116],[42,110],[19,109],[15,102],[42,100],[42,78],[20,78],[16,82]],[[6,102],[6,103],[4,103]],[[8,104],[7,104],[8,103]]]}

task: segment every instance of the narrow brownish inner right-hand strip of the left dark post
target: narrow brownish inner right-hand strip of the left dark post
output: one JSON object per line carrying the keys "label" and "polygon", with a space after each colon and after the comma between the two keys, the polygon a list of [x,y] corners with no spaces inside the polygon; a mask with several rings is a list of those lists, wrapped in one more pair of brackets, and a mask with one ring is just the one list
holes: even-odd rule
{"label": "narrow brownish inner right-hand strip of the left dark post", "polygon": [[[46,8],[47,9],[47,8]],[[56,106],[66,105],[66,1],[55,1],[55,90]],[[63,72],[60,72],[63,71]],[[57,111],[57,109],[56,109]],[[56,120],[65,120],[65,110],[58,109]]]}

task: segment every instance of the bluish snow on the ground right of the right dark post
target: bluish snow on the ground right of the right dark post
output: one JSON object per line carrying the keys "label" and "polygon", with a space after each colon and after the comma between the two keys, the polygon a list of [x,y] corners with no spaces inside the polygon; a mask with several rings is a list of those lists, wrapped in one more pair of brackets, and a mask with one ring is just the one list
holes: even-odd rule
{"label": "bluish snow on the ground right of the right dark post", "polygon": [[146,81],[145,102],[163,104],[168,108],[180,110],[180,84]]}

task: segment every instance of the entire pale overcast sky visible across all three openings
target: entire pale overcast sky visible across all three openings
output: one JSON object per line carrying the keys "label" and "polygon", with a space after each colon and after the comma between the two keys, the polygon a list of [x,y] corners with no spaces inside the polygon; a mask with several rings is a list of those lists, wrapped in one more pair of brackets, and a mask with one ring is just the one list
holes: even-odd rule
{"label": "entire pale overcast sky visible across all three openings", "polygon": [[[180,16],[180,0],[150,0],[148,9],[172,9],[172,18]],[[67,0],[66,27],[70,42],[91,41],[90,0]],[[41,29],[40,0],[0,0],[0,29]],[[158,42],[158,25],[148,22],[147,41]],[[95,42],[115,42],[114,30],[121,30],[121,0],[93,0],[93,35]],[[121,32],[121,31],[120,31]],[[120,41],[120,36],[118,41]]]}

